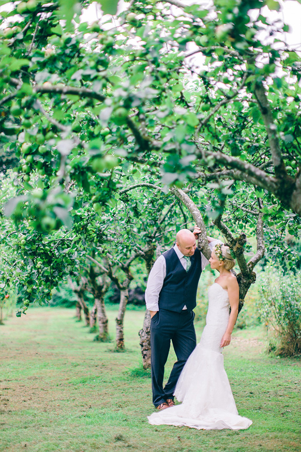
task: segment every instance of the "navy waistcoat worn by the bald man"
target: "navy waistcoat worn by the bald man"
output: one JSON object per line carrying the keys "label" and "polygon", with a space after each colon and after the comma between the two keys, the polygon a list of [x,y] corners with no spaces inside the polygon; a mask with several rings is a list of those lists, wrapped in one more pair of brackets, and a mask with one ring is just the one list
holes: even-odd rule
{"label": "navy waistcoat worn by the bald man", "polygon": [[180,313],[186,305],[188,312],[197,305],[197,290],[201,276],[201,252],[197,248],[190,257],[191,266],[186,272],[173,248],[165,251],[166,277],[159,294],[159,310]]}

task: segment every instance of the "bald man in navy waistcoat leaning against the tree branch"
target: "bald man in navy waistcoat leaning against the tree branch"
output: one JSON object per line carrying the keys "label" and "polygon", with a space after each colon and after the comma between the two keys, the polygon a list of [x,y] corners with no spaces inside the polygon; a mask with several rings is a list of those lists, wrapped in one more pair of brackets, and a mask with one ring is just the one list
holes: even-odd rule
{"label": "bald man in navy waistcoat leaning against the tree branch", "polygon": [[[174,390],[190,353],[196,347],[193,325],[198,283],[201,272],[209,263],[197,248],[201,230],[193,233],[181,229],[176,244],[154,263],[145,292],[146,307],[151,313],[151,387],[156,409],[174,405]],[[211,249],[219,240],[208,237]],[[163,388],[164,367],[170,341],[177,356],[169,379]]]}

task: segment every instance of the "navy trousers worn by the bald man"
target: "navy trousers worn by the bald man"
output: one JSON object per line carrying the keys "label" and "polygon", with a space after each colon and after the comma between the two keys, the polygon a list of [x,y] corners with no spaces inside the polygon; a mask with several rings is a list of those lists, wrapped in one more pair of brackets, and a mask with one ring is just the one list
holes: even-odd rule
{"label": "navy trousers worn by the bald man", "polygon": [[[173,399],[173,393],[182,369],[195,349],[196,332],[193,325],[194,312],[181,313],[160,309],[151,319],[151,387],[155,407]],[[164,366],[172,342],[177,356],[169,379],[163,388]]]}

